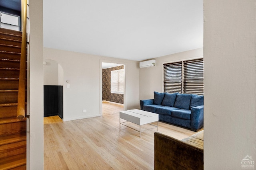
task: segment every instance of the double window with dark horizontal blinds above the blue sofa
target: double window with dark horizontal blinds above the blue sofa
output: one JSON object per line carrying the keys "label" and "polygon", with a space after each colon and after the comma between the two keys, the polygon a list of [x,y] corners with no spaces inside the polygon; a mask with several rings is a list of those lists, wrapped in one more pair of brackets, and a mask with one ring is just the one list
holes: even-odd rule
{"label": "double window with dark horizontal blinds above the blue sofa", "polygon": [[164,92],[203,95],[203,59],[164,64]]}

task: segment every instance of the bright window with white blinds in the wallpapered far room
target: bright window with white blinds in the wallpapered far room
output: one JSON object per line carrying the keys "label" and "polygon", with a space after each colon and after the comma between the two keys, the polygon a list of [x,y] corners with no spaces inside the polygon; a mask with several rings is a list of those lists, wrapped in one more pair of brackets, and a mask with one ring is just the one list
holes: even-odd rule
{"label": "bright window with white blinds in the wallpapered far room", "polygon": [[111,93],[124,94],[124,69],[111,71]]}

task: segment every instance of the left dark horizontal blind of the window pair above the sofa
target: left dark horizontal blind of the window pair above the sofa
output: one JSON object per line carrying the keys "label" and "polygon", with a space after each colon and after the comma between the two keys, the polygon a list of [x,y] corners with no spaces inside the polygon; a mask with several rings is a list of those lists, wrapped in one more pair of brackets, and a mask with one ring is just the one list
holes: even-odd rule
{"label": "left dark horizontal blind of the window pair above the sofa", "polygon": [[164,64],[164,92],[182,93],[182,62]]}

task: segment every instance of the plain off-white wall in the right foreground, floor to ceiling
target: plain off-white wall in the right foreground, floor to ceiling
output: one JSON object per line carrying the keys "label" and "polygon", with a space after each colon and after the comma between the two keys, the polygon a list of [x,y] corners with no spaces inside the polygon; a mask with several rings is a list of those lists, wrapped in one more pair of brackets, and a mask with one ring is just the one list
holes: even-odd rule
{"label": "plain off-white wall in the right foreground, floor to ceiling", "polygon": [[204,169],[256,169],[256,0],[204,0]]}

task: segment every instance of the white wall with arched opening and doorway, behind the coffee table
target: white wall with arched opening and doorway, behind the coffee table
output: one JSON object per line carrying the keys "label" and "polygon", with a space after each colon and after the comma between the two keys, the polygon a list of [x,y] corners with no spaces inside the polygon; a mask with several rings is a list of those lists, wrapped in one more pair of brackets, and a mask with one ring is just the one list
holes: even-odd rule
{"label": "white wall with arched opening and doorway, behind the coffee table", "polygon": [[[127,109],[139,108],[139,67],[137,61],[44,48],[44,60],[54,60],[63,68],[63,120],[100,115],[100,62],[125,64]],[[66,80],[70,80],[69,83]],[[70,84],[70,88],[67,88]],[[87,112],[83,113],[82,110]]]}

